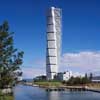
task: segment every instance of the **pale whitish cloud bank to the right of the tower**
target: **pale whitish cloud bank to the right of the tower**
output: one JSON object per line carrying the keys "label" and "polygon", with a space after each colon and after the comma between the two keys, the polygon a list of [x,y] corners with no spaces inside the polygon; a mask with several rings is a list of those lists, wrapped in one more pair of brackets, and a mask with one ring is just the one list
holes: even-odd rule
{"label": "pale whitish cloud bank to the right of the tower", "polygon": [[61,66],[93,71],[100,68],[100,52],[65,53],[61,58]]}

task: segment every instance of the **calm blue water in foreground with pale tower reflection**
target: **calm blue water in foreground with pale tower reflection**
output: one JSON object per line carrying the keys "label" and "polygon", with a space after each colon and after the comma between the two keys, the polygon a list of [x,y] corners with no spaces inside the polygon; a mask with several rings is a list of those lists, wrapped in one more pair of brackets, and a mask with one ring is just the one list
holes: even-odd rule
{"label": "calm blue water in foreground with pale tower reflection", "polygon": [[100,100],[96,92],[46,92],[42,88],[18,85],[14,89],[15,100]]}

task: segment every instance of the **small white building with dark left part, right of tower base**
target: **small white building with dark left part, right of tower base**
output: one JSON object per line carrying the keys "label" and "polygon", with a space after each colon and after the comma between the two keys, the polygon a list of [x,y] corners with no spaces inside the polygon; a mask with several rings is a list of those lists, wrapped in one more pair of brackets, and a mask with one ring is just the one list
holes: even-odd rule
{"label": "small white building with dark left part, right of tower base", "polygon": [[56,79],[60,81],[67,81],[71,78],[72,72],[66,71],[66,72],[60,72],[57,74]]}

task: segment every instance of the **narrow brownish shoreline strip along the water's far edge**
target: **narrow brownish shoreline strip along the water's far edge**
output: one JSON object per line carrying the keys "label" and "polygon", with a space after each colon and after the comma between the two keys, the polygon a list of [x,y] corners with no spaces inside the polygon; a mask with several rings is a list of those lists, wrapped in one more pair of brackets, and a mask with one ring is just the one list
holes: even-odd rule
{"label": "narrow brownish shoreline strip along the water's far edge", "polygon": [[47,91],[65,91],[65,90],[71,90],[71,91],[92,91],[92,92],[98,92],[100,93],[100,87],[97,87],[97,84],[86,84],[86,85],[72,85],[72,86],[66,86],[66,85],[43,85],[43,84],[36,84],[32,82],[26,82],[22,85],[27,85],[27,86],[33,86],[33,87],[40,87],[44,88]]}

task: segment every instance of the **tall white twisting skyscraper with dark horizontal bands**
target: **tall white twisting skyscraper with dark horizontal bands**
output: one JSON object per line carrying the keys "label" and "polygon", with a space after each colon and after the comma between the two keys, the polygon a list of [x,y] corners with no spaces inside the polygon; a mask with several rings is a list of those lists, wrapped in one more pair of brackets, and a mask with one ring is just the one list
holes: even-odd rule
{"label": "tall white twisting skyscraper with dark horizontal bands", "polygon": [[47,48],[46,74],[47,79],[54,79],[58,73],[61,48],[61,9],[51,7],[47,11]]}

